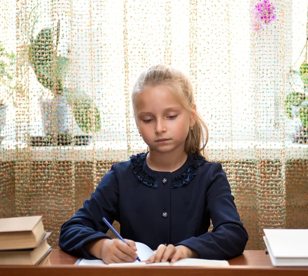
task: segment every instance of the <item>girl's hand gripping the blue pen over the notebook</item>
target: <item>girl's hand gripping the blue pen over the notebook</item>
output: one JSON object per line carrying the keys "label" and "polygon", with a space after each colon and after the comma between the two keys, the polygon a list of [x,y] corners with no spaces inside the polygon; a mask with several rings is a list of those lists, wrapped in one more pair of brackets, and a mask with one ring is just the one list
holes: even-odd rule
{"label": "girl's hand gripping the blue pen over the notebook", "polygon": [[85,249],[94,257],[102,259],[105,264],[130,263],[136,261],[138,255],[134,241],[124,239],[101,239],[86,245]]}

